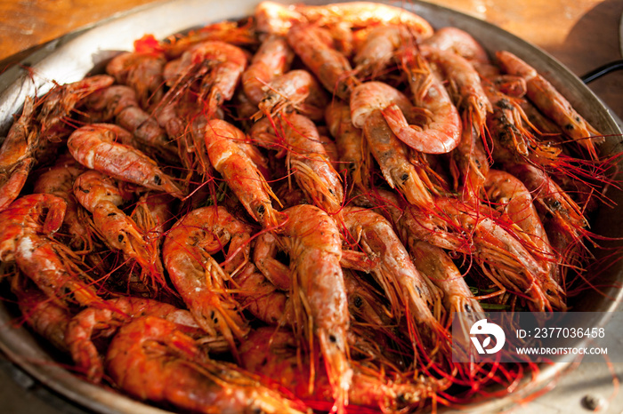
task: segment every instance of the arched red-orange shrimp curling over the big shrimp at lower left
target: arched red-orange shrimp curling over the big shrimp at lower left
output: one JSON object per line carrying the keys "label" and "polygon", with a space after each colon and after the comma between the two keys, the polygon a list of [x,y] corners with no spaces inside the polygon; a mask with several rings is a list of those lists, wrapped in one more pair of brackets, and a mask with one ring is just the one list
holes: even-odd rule
{"label": "arched red-orange shrimp curling over the big shrimp at lower left", "polygon": [[65,346],[69,348],[77,369],[89,381],[99,384],[104,364],[95,345],[96,339],[110,338],[119,327],[148,314],[183,325],[188,332],[200,331],[189,311],[173,305],[134,297],[109,299],[97,307],[87,307],[69,320]]}

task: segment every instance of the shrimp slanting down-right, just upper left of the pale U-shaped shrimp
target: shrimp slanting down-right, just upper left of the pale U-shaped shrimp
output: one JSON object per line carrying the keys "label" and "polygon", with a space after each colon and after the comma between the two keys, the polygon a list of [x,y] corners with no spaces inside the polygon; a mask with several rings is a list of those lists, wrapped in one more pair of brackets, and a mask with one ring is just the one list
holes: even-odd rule
{"label": "shrimp slanting down-right, just upper left of the pale U-shaped shrimp", "polygon": [[329,47],[318,33],[320,28],[296,25],[287,31],[287,43],[320,84],[337,97],[347,100],[355,83],[346,57]]}

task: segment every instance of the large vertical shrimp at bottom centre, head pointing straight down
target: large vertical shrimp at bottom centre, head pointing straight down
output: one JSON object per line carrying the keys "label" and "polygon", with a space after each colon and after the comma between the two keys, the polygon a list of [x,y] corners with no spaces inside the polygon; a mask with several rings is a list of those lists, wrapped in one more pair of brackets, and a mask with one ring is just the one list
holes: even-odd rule
{"label": "large vertical shrimp at bottom centre, head pointing straight down", "polygon": [[340,267],[339,231],[336,221],[312,205],[296,205],[284,213],[288,219],[278,240],[290,256],[295,329],[298,335],[303,330],[310,349],[314,338],[318,338],[335,410],[342,411],[348,404],[352,369],[346,338],[350,317]]}

